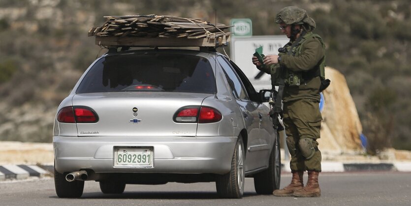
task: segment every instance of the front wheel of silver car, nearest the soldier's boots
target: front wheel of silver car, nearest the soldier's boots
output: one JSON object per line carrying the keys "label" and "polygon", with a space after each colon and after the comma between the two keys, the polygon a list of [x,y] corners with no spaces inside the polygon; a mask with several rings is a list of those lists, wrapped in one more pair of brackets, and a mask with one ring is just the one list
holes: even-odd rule
{"label": "front wheel of silver car, nearest the soldier's boots", "polygon": [[267,170],[254,174],[254,188],[257,194],[272,194],[280,188],[281,154],[280,136],[276,132],[276,141],[270,154]]}

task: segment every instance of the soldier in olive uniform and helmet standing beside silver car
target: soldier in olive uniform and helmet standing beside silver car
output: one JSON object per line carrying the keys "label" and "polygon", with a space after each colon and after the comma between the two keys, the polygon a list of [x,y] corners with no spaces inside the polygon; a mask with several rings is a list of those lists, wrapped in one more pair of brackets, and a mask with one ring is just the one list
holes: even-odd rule
{"label": "soldier in olive uniform and helmet standing beside silver car", "polygon": [[[275,190],[273,195],[319,197],[321,152],[316,139],[320,137],[322,120],[319,111],[320,86],[321,83],[326,84],[323,78],[325,46],[321,37],[312,33],[316,23],[304,9],[285,7],[276,15],[275,21],[290,41],[279,50],[279,55],[265,56],[263,65],[253,57],[257,69],[271,74],[273,88],[274,85],[281,87],[281,82],[284,86],[283,123],[291,154],[292,180],[284,189]],[[305,187],[304,171],[308,171]]]}

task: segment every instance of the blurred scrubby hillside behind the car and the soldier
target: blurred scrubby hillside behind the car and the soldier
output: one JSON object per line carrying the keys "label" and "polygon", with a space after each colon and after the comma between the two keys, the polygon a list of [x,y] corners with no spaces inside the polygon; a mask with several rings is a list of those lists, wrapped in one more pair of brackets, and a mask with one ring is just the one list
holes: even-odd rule
{"label": "blurred scrubby hillside behind the car and the soldier", "polygon": [[279,35],[290,5],[315,19],[327,66],[345,75],[368,153],[411,150],[409,0],[0,0],[0,140],[52,141],[58,104],[106,52],[87,36],[105,15],[250,18],[253,35]]}

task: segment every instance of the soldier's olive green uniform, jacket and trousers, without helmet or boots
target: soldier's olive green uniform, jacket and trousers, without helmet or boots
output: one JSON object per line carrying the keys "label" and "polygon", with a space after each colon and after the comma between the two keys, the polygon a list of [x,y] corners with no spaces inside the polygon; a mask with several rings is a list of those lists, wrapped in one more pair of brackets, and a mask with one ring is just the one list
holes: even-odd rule
{"label": "soldier's olive green uniform, jacket and trousers, without helmet or boots", "polygon": [[[279,54],[279,64],[259,69],[271,74],[273,84],[280,77],[286,79],[283,123],[291,154],[291,171],[321,172],[321,152],[316,139],[320,137],[322,120],[319,111],[319,65],[324,63],[325,49],[321,38],[312,32],[305,34],[296,46],[291,47],[292,43],[290,41],[285,45],[288,51],[292,49],[291,52]],[[280,67],[285,68],[281,73]],[[292,75],[299,76],[299,83],[287,81]]]}

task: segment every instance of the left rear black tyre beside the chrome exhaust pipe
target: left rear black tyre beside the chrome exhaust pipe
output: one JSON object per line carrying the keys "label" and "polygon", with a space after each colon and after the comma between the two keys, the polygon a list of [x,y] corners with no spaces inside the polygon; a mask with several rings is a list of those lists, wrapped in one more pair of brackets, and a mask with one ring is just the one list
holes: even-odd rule
{"label": "left rear black tyre beside the chrome exhaust pipe", "polygon": [[59,198],[79,198],[83,195],[84,181],[65,180],[65,175],[54,169],[54,186]]}

